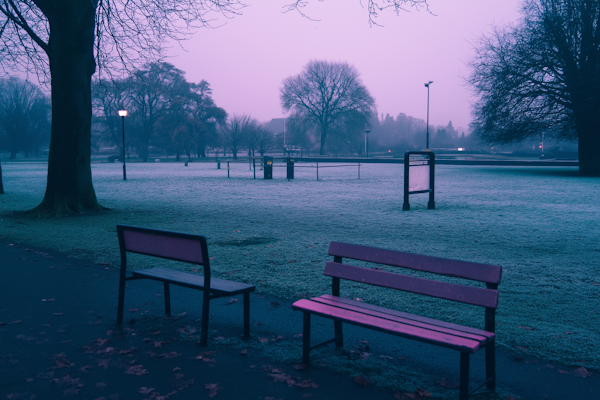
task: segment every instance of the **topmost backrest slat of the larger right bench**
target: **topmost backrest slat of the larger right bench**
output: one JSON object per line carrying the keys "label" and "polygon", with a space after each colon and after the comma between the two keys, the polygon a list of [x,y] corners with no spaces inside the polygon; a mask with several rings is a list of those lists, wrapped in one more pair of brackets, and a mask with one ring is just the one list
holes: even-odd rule
{"label": "topmost backrest slat of the larger right bench", "polygon": [[502,267],[498,265],[451,260],[349,243],[331,242],[329,254],[493,284],[499,284],[502,275]]}

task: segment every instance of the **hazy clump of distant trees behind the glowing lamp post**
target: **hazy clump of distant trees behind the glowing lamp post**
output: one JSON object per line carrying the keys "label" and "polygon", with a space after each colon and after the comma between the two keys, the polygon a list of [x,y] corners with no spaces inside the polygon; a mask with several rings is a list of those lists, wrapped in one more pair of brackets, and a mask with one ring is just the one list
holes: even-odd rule
{"label": "hazy clump of distant trees behind the glowing lamp post", "polygon": [[126,152],[144,162],[150,150],[187,158],[206,157],[212,149],[230,151],[234,158],[244,149],[264,154],[273,147],[273,135],[249,115],[228,116],[212,99],[207,81],[188,82],[173,65],[151,63],[130,76],[97,81],[92,87],[92,147],[116,146],[122,152],[118,111],[127,110]]}

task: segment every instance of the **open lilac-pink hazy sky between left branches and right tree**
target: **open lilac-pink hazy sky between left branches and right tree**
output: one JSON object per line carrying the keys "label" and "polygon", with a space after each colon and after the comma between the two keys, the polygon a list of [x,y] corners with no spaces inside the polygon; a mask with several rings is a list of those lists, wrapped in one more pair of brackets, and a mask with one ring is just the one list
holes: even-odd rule
{"label": "open lilac-pink hazy sky between left branches and right tree", "polygon": [[[366,5],[367,0],[362,0]],[[174,47],[167,61],[189,81],[207,80],[217,105],[261,121],[281,118],[281,82],[311,59],[354,65],[379,114],[405,113],[430,123],[467,128],[471,94],[462,77],[477,36],[494,24],[516,22],[521,0],[429,0],[426,11],[383,12],[370,27],[360,0],[310,0],[304,11],[282,13],[288,0],[246,0],[243,15],[221,18]]]}

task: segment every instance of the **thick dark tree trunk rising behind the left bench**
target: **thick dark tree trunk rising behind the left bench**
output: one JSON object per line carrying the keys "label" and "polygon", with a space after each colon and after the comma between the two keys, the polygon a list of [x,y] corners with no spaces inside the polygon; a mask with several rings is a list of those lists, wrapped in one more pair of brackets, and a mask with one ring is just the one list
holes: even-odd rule
{"label": "thick dark tree trunk rising behind the left bench", "polygon": [[94,2],[55,2],[47,13],[52,133],[44,199],[30,213],[54,217],[99,211],[90,167]]}

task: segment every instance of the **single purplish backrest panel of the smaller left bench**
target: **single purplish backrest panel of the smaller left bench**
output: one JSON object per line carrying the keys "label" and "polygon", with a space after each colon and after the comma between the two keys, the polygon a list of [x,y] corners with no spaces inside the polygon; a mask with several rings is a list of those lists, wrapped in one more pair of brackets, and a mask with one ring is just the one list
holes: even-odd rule
{"label": "single purplish backrest panel of the smaller left bench", "polygon": [[125,249],[134,253],[203,264],[202,243],[197,235],[126,227],[123,229]]}

